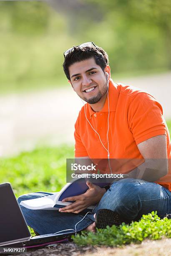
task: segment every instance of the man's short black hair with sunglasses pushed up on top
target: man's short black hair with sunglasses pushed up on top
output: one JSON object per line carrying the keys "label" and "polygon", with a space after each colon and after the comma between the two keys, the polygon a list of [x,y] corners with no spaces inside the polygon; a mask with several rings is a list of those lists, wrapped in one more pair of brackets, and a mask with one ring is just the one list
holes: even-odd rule
{"label": "man's short black hair with sunglasses pushed up on top", "polygon": [[[97,48],[96,48],[97,47]],[[85,47],[73,47],[69,53],[65,56],[63,62],[63,70],[66,77],[70,80],[69,67],[75,62],[83,61],[85,59],[95,59],[95,62],[104,72],[106,65],[109,63],[108,54],[101,47],[98,46],[85,46]]]}

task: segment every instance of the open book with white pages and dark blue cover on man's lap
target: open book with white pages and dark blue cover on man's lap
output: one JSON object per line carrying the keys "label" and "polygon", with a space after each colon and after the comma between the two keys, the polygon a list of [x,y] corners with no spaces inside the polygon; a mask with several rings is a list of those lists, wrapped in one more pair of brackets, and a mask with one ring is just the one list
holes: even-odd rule
{"label": "open book with white pages and dark blue cover on man's lap", "polygon": [[[90,179],[88,179],[90,180]],[[88,189],[86,184],[87,179],[74,179],[73,182],[67,183],[60,192],[53,193],[53,195],[39,197],[36,199],[21,201],[20,205],[32,210],[58,210],[59,208],[70,205],[72,202],[61,202],[66,197],[73,197],[85,193]],[[90,180],[91,181],[91,180]],[[92,182],[93,183],[93,182]],[[109,182],[94,183],[99,187],[109,185]],[[95,206],[89,206],[87,211],[93,209]],[[86,211],[86,210],[85,210]]]}

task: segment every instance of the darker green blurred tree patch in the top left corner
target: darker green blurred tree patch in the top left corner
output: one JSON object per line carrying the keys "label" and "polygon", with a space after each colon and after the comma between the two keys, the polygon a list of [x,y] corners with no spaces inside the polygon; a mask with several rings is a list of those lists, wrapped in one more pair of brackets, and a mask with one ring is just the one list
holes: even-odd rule
{"label": "darker green blurred tree patch in the top left corner", "polygon": [[1,1],[0,9],[10,13],[10,30],[22,35],[40,35],[48,28],[50,9],[39,1]]}

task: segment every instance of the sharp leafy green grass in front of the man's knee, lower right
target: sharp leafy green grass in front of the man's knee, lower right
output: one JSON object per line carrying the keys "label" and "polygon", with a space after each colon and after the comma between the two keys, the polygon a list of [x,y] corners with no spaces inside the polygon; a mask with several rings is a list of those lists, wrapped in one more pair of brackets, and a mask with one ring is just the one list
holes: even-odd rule
{"label": "sharp leafy green grass in front of the man's knee, lower right", "polygon": [[122,223],[119,227],[113,225],[111,228],[98,229],[96,233],[86,233],[72,236],[78,246],[122,246],[129,243],[140,243],[144,239],[171,238],[171,219],[160,219],[157,212],[143,215],[138,222],[130,225]]}

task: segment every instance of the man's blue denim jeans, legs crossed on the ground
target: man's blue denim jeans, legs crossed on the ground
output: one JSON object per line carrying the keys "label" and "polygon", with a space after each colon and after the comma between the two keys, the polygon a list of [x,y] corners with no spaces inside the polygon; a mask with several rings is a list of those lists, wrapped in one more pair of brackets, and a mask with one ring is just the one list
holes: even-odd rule
{"label": "man's blue denim jeans, legs crossed on the ground", "polygon": [[[18,198],[18,202],[47,195],[52,195],[52,193],[37,192],[22,195]],[[75,230],[75,224],[85,215],[62,213],[55,210],[30,210],[23,206],[20,207],[27,224],[40,235],[56,233],[65,229]],[[158,216],[163,218],[166,214],[171,214],[171,192],[159,184],[141,179],[121,179],[113,182],[92,214],[86,215],[78,223],[77,231],[83,230],[93,223],[94,213],[103,208],[116,211],[128,220],[139,220],[143,214],[152,211],[157,211]]]}

